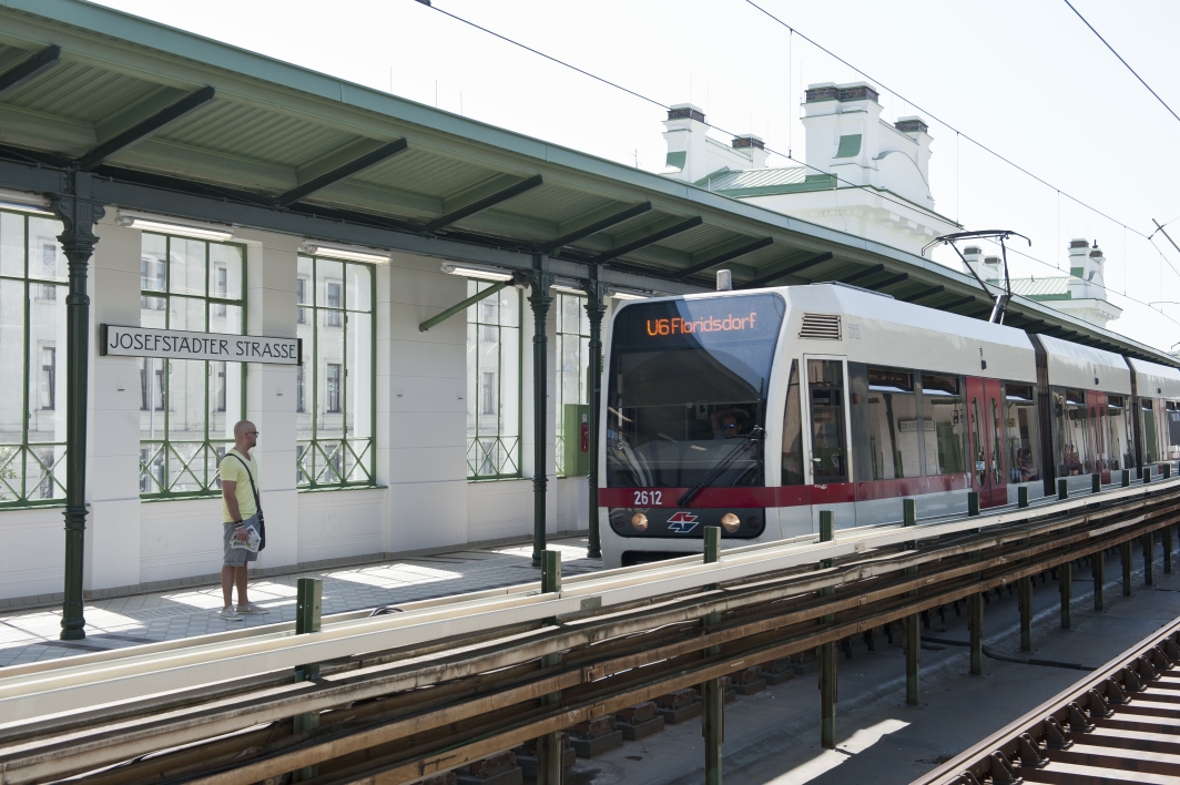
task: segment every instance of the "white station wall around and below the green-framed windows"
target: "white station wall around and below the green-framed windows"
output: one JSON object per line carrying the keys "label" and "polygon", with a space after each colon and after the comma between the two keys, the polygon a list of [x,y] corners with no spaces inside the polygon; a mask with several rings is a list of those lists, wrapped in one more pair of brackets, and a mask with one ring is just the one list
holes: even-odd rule
{"label": "white station wall around and below the green-framed windows", "polygon": [[[109,216],[114,215],[109,211]],[[88,477],[85,590],[90,596],[203,582],[221,570],[219,497],[140,499],[140,365],[100,356],[98,325],[140,319],[142,233],[107,217],[91,263]],[[247,247],[247,333],[296,335],[296,257],[302,237],[238,229]],[[467,280],[440,270],[439,260],[394,254],[375,273],[376,485],[296,490],[296,368],[248,364],[245,416],[261,433],[257,447],[267,549],[262,574],[380,558],[467,543],[522,539],[532,534],[536,434],[532,397],[522,411],[523,477],[468,482],[466,438],[467,323],[459,314],[421,333],[424,320],[464,300]],[[556,309],[549,314],[550,378],[556,379]],[[532,342],[527,303],[522,340]],[[609,322],[608,322],[609,323]],[[64,341],[59,342],[64,367]],[[522,390],[532,387],[531,353],[523,353]],[[64,398],[64,393],[59,393]],[[545,440],[550,534],[584,530],[584,477],[553,476],[553,381]],[[64,406],[58,412],[64,416]],[[0,607],[52,602],[63,590],[61,506],[0,510]]]}

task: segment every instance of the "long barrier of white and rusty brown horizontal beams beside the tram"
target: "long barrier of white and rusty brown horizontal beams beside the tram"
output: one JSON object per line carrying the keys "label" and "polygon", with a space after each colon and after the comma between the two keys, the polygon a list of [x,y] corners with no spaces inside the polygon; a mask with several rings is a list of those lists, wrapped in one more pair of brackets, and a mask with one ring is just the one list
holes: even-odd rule
{"label": "long barrier of white and rusty brown horizontal beams beside the tram", "polygon": [[0,783],[412,783],[1178,518],[1171,480],[0,669]]}

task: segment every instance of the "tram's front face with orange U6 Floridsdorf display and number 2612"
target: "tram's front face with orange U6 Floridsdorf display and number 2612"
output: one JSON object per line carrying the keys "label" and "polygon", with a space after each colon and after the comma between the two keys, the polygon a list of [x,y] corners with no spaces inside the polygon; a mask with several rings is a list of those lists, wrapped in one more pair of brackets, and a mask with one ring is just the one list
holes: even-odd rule
{"label": "tram's front face with orange U6 Floridsdorf display and number 2612", "polygon": [[785,314],[773,292],[636,301],[615,314],[599,491],[608,567],[700,552],[704,526],[727,539],[767,534]]}

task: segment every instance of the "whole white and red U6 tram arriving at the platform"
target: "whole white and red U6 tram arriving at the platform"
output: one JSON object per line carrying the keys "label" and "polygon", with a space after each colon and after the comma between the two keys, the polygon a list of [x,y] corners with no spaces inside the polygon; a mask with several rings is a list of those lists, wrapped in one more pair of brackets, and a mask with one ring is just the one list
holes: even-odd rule
{"label": "whole white and red U6 tram arriving at the platform", "polygon": [[621,567],[1169,475],[1180,369],[843,283],[623,303],[599,410]]}

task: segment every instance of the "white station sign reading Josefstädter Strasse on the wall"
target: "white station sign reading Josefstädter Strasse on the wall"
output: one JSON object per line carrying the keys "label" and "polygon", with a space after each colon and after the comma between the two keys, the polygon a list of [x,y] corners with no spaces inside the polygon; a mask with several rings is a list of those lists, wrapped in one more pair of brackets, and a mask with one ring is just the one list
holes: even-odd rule
{"label": "white station sign reading Josefst\u00e4dter Strasse on the wall", "polygon": [[297,338],[266,338],[227,333],[190,333],[153,327],[99,326],[99,354],[156,356],[169,360],[219,360],[301,365],[303,342]]}

